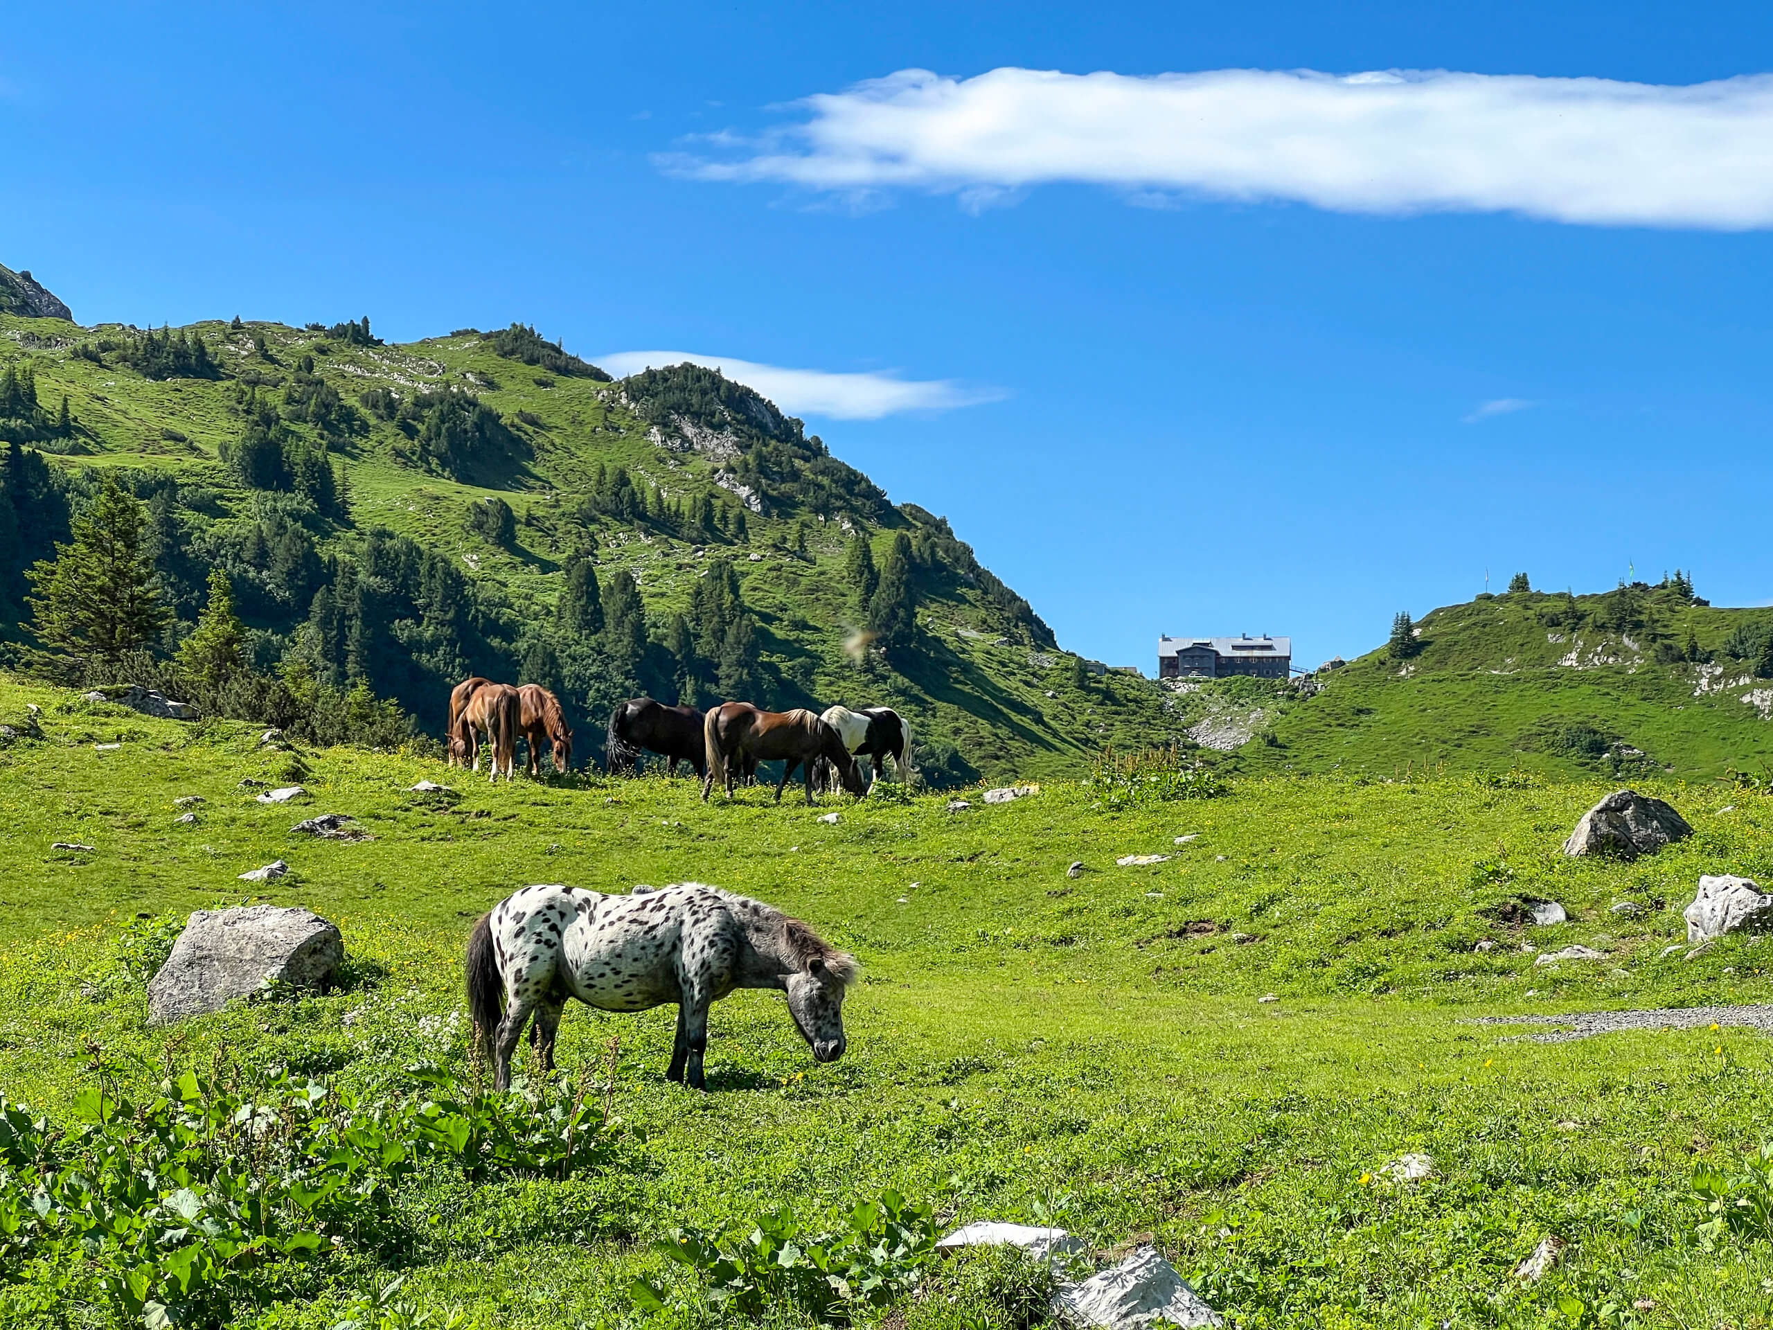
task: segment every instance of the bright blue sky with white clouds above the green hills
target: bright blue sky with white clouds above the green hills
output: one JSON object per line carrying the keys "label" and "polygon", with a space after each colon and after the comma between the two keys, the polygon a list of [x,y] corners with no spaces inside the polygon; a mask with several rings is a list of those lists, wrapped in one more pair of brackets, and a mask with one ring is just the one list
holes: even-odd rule
{"label": "bright blue sky with white clouds above the green hills", "polygon": [[1486,569],[1773,601],[1773,16],[1454,9],[21,7],[0,262],[748,362],[1147,672]]}

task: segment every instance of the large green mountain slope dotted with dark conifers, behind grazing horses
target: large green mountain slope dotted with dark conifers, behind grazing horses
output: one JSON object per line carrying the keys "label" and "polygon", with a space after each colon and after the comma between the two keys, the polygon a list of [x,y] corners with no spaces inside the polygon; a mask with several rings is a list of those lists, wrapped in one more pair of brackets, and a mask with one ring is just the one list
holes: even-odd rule
{"label": "large green mountain slope dotted with dark conifers, behind grazing horses", "polygon": [[[518,326],[385,346],[367,319],[156,335],[0,316],[0,438],[16,445],[0,573],[20,640],[20,571],[108,472],[152,514],[181,619],[167,649],[222,566],[259,669],[363,679],[433,729],[447,685],[486,672],[564,686],[582,738],[640,688],[885,702],[950,782],[1174,736],[1154,685],[1087,676],[945,520],[892,504],[711,371],[617,383]],[[855,534],[878,575],[904,541],[915,624],[897,640],[863,631]],[[562,621],[576,559],[610,615],[621,575],[637,583],[644,631],[626,645]]]}

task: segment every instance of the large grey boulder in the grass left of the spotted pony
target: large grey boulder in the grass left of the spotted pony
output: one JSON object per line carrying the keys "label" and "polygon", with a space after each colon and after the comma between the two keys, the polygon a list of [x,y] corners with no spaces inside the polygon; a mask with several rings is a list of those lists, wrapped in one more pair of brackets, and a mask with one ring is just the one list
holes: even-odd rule
{"label": "large grey boulder in the grass left of the spotted pony", "polygon": [[147,984],[156,1025],[220,1011],[268,982],[321,988],[344,961],[339,929],[307,910],[248,904],[199,910]]}

